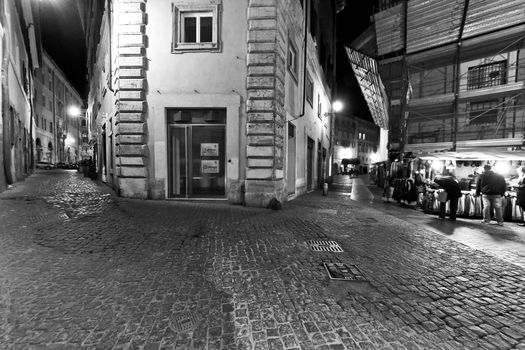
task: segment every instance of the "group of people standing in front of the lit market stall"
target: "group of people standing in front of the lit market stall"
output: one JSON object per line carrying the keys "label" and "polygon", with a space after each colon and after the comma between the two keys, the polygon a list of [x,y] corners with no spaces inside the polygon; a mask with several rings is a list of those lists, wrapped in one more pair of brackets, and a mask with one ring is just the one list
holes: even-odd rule
{"label": "group of people standing in front of the lit market stall", "polygon": [[[456,220],[458,201],[462,196],[458,181],[450,175],[436,176],[434,182],[444,189],[444,194],[439,198],[439,218],[445,219],[447,202],[450,203],[450,219]],[[488,224],[492,218],[492,212],[496,213],[496,222],[503,225],[502,197],[507,190],[505,178],[492,171],[492,166],[486,164],[484,172],[478,177],[476,182],[476,196],[481,195],[483,201],[483,220],[482,223]],[[518,184],[516,187],[516,204],[525,211],[525,166],[518,168]],[[519,223],[525,226],[524,222]]]}

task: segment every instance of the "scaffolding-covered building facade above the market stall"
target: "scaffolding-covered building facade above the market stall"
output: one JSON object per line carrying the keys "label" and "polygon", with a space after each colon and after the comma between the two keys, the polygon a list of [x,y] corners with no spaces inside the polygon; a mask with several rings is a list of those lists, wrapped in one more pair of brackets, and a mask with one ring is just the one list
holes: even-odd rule
{"label": "scaffolding-covered building facade above the market stall", "polygon": [[520,150],[525,1],[380,1],[353,48],[388,95],[390,150]]}

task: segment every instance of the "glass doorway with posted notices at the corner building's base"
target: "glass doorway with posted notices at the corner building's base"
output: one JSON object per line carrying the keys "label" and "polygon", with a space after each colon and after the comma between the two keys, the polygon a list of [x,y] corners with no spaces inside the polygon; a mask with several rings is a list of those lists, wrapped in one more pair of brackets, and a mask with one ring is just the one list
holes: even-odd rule
{"label": "glass doorway with posted notices at the corner building's base", "polygon": [[226,110],[168,110],[168,196],[224,198]]}

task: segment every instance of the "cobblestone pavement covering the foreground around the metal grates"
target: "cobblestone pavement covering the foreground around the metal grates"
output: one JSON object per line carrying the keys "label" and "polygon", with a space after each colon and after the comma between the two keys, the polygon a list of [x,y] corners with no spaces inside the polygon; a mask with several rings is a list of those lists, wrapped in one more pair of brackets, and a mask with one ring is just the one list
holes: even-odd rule
{"label": "cobblestone pavement covering the foreground around the metal grates", "polygon": [[1,349],[525,349],[524,285],[350,196],[126,200],[71,170],[0,194]]}

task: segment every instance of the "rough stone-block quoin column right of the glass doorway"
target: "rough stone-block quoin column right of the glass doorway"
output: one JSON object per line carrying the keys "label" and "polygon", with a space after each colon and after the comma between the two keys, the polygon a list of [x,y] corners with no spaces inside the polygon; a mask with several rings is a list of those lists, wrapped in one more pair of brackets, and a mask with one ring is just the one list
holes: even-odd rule
{"label": "rough stone-block quoin column right of the glass doorway", "polygon": [[250,0],[247,54],[247,169],[245,202],[283,201],[286,36],[277,0]]}

